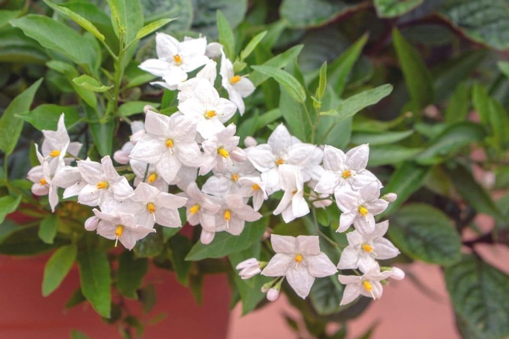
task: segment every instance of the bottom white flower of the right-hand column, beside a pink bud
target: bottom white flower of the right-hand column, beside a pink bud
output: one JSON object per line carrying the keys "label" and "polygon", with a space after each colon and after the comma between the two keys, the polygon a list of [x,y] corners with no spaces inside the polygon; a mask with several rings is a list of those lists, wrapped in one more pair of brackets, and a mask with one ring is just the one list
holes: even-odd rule
{"label": "bottom white flower of the right-hand column, beside a pink bud", "polygon": [[383,288],[381,280],[387,279],[392,271],[380,272],[380,266],[377,263],[363,275],[338,275],[340,283],[345,284],[343,299],[340,305],[346,305],[354,301],[359,295],[379,299],[382,296]]}

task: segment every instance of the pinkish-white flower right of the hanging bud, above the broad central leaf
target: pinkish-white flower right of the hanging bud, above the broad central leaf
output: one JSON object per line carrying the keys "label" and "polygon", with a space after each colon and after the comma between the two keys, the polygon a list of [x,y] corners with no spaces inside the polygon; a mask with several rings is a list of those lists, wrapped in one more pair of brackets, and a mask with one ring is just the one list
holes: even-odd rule
{"label": "pinkish-white flower right of the hanging bud, above the broad central leaf", "polygon": [[245,222],[253,222],[262,218],[262,214],[246,205],[241,196],[230,194],[224,197],[223,204],[216,214],[216,232],[227,231],[239,235]]}

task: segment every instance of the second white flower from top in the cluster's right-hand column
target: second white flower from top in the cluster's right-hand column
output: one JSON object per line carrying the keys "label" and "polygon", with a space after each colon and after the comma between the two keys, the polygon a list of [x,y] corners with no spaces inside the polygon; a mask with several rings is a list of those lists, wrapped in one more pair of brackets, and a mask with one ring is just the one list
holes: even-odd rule
{"label": "second white flower from top in the cluster's right-hand column", "polygon": [[336,232],[345,232],[350,225],[363,234],[373,233],[375,217],[382,213],[389,202],[380,199],[380,183],[371,181],[354,191],[348,186],[338,188],[334,193],[337,207],[341,209],[340,227]]}

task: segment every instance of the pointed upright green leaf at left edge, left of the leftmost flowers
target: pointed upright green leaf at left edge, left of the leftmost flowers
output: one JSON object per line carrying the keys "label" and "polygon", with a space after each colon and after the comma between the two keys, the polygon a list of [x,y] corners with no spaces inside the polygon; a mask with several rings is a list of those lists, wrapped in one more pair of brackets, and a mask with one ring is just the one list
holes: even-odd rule
{"label": "pointed upright green leaf at left edge, left of the leftmost flowers", "polygon": [[0,149],[6,155],[10,155],[18,142],[23,128],[23,120],[16,117],[16,114],[26,112],[30,109],[35,93],[41,85],[42,79],[34,82],[23,93],[14,98],[0,117],[0,131],[9,131],[9,133],[0,133]]}

